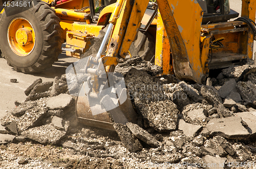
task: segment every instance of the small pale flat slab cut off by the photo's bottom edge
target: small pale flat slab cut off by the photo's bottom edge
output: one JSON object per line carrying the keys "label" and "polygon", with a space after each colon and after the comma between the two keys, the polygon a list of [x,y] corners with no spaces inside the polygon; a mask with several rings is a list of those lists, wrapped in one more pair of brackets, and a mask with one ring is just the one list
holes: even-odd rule
{"label": "small pale flat slab cut off by the photo's bottom edge", "polygon": [[203,157],[204,163],[207,164],[205,168],[209,168],[209,169],[212,169],[212,168],[223,169],[226,160],[227,160],[226,158],[214,157],[210,155],[206,155]]}

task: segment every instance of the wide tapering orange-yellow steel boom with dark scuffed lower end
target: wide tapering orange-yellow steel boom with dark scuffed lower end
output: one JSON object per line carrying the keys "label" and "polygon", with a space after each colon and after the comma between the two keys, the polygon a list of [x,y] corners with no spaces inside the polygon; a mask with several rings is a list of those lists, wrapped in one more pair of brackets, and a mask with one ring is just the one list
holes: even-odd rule
{"label": "wide tapering orange-yellow steel boom with dark scuffed lower end", "polygon": [[[202,83],[206,77],[200,63],[202,9],[197,1],[157,0],[180,79]],[[186,12],[184,12],[186,11]]]}

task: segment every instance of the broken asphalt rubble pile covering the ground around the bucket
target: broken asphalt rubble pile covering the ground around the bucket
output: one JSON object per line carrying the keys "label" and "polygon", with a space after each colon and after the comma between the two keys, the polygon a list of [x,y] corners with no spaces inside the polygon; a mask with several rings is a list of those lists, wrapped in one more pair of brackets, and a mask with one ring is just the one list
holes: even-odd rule
{"label": "broken asphalt rubble pile covering the ground around the bucket", "polygon": [[[254,63],[223,69],[204,85],[159,76],[161,71],[139,57],[117,66],[138,122],[114,122],[116,131],[78,123],[66,75],[53,82],[36,80],[25,91],[27,99],[15,102],[16,107],[0,120],[0,166],[255,167]],[[31,145],[37,148],[33,153]],[[49,152],[42,152],[44,149]],[[8,150],[16,155],[8,156]]]}

